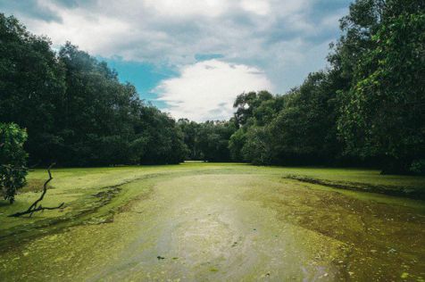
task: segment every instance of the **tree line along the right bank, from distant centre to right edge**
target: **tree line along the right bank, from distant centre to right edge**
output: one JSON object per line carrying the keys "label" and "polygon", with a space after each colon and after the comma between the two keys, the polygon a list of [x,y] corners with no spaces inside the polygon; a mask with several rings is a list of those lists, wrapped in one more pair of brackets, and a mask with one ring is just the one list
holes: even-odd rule
{"label": "tree line along the right bank, from distant centre to right edge", "polygon": [[357,0],[340,29],[329,68],[300,87],[238,95],[229,121],[183,122],[191,156],[425,174],[425,2]]}

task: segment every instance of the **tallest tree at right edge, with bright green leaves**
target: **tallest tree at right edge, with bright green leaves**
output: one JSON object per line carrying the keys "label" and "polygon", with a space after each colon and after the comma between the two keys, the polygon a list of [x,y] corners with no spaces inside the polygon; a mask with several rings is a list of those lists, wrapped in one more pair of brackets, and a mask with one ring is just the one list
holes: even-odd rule
{"label": "tallest tree at right edge, with bright green leaves", "polygon": [[408,172],[425,158],[424,6],[386,2],[352,87],[341,93],[338,130],[346,153],[381,156],[384,172]]}

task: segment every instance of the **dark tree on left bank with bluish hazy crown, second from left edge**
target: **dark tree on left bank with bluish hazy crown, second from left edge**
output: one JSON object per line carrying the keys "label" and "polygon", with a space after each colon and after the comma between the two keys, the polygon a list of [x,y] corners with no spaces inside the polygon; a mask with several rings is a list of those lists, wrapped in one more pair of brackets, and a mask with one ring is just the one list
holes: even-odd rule
{"label": "dark tree on left bank with bluish hazy crown, second from left edge", "polygon": [[[138,162],[134,126],[142,103],[136,88],[121,84],[117,73],[77,46],[59,52],[66,70],[66,92],[58,119],[57,162],[107,165]],[[138,143],[140,145],[140,143]]]}

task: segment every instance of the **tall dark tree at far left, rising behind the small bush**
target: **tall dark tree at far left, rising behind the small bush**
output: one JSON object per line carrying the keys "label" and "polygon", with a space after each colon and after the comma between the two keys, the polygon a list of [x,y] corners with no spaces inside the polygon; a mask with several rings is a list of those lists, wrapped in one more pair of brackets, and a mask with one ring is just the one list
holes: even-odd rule
{"label": "tall dark tree at far left, rising behind the small bush", "polygon": [[14,17],[0,13],[0,121],[28,131],[25,149],[37,162],[54,158],[62,141],[56,120],[62,114],[63,65],[46,37],[30,34]]}

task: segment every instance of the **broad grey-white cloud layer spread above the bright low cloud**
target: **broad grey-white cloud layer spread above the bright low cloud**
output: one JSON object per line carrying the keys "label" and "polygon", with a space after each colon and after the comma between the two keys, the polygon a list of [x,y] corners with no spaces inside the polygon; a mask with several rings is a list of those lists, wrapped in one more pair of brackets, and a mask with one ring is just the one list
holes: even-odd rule
{"label": "broad grey-white cloud layer spread above the bright low cloud", "polygon": [[[31,0],[41,12],[21,9],[17,16],[32,32],[51,37],[54,46],[70,40],[90,54],[173,71],[197,66],[196,54],[220,54],[223,62],[262,70],[283,93],[325,65],[337,19],[346,13],[338,3],[347,7],[350,1]],[[34,15],[46,11],[54,14],[49,21]],[[223,93],[235,95],[227,87]]]}

